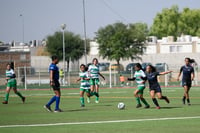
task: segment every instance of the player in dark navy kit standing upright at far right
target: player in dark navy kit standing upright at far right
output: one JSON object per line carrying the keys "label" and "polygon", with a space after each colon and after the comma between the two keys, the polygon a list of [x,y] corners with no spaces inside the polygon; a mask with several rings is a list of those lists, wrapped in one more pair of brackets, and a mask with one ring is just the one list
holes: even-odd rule
{"label": "player in dark navy kit standing upright at far right", "polygon": [[194,80],[194,68],[190,65],[190,58],[185,58],[185,65],[181,67],[180,72],[178,74],[177,80],[182,73],[182,86],[184,88],[184,95],[183,95],[183,104],[185,104],[185,100],[187,100],[188,105],[190,104],[189,98],[189,91],[192,85],[192,80]]}

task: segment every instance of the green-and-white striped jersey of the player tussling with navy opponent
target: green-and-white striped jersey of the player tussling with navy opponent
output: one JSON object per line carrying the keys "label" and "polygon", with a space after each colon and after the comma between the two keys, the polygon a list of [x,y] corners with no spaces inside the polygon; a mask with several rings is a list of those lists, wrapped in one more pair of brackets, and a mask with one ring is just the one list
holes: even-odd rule
{"label": "green-and-white striped jersey of the player tussling with navy opponent", "polygon": [[145,83],[142,77],[143,78],[146,77],[144,71],[142,70],[135,71],[134,78],[138,86],[145,86]]}

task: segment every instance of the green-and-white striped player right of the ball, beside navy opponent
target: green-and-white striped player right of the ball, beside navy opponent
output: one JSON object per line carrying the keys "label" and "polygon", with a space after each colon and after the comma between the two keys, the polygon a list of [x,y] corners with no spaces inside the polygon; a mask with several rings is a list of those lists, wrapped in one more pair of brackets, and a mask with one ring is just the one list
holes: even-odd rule
{"label": "green-and-white striped player right of the ball, beside navy opponent", "polygon": [[140,65],[140,63],[136,63],[134,67],[135,67],[134,68],[135,69],[134,77],[128,78],[128,80],[129,81],[136,80],[136,83],[137,83],[138,88],[134,91],[134,96],[137,101],[136,108],[142,107],[140,100],[145,104],[145,108],[149,108],[150,107],[149,104],[143,97],[143,92],[145,89],[145,82],[146,82],[146,75],[145,75],[144,71],[142,70],[142,66]]}

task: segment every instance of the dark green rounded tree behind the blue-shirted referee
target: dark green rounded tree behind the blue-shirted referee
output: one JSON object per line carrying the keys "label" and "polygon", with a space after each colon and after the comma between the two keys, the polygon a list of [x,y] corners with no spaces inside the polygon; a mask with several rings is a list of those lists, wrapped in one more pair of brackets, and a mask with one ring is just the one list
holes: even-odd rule
{"label": "dark green rounded tree behind the blue-shirted referee", "polygon": [[[84,55],[84,40],[80,35],[72,32],[65,32],[65,60],[67,61],[67,71],[69,71],[69,62],[76,61]],[[47,37],[47,51],[51,55],[57,55],[60,60],[63,59],[63,33],[55,32]],[[89,43],[87,41],[87,53],[89,52]]]}

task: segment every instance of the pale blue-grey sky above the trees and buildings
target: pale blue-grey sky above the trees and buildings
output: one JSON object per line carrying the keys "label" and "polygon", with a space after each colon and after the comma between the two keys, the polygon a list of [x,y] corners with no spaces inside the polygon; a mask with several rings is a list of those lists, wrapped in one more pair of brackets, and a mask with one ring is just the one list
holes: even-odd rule
{"label": "pale blue-grey sky above the trees and buildings", "polygon": [[[85,0],[87,38],[100,27],[122,22],[147,23],[150,27],[163,8],[199,9],[200,0]],[[21,15],[20,15],[21,14]],[[0,0],[0,41],[28,43],[66,30],[84,37],[83,0]],[[24,30],[23,30],[24,27]]]}

